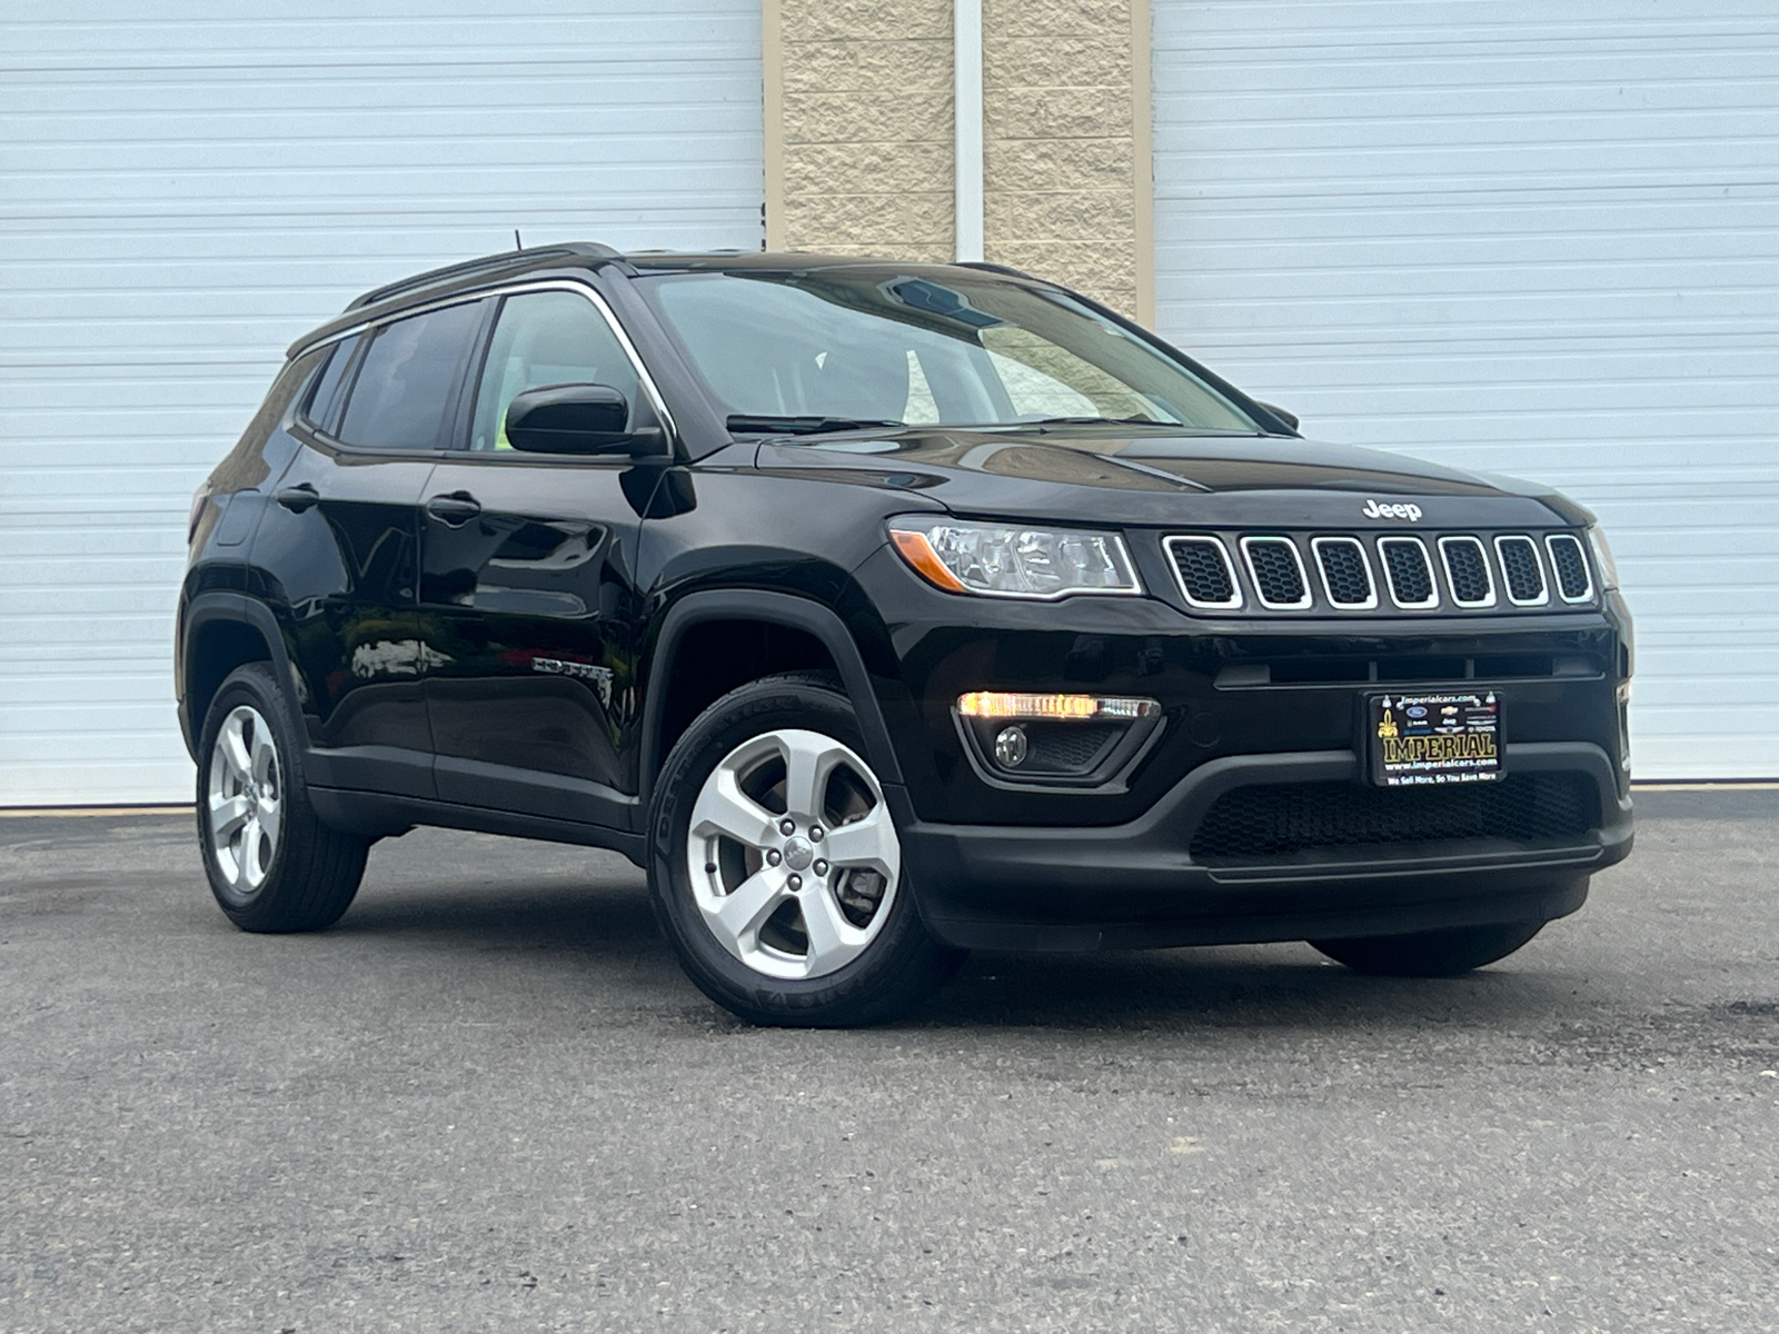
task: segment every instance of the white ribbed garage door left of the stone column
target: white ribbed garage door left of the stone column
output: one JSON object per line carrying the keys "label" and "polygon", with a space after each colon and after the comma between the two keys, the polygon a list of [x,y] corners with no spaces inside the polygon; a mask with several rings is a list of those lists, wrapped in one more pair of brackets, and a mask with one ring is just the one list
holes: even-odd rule
{"label": "white ribbed garage door left of the stone column", "polygon": [[760,245],[758,0],[0,7],[0,806],[190,799],[192,487],[354,293]]}

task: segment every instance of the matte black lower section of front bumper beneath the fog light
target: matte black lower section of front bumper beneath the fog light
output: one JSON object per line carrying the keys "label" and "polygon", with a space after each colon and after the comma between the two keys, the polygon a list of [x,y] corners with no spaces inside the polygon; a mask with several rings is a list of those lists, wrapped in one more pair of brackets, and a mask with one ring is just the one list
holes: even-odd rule
{"label": "matte black lower section of front bumper beneath the fog light", "polygon": [[1192,834],[1247,784],[1357,783],[1352,751],[1226,756],[1199,765],[1117,825],[923,822],[886,795],[922,916],[973,950],[1094,950],[1382,936],[1553,920],[1587,898],[1589,875],[1631,848],[1631,802],[1614,759],[1589,742],[1509,745],[1510,774],[1585,775],[1587,834],[1315,848],[1247,863],[1194,861]]}

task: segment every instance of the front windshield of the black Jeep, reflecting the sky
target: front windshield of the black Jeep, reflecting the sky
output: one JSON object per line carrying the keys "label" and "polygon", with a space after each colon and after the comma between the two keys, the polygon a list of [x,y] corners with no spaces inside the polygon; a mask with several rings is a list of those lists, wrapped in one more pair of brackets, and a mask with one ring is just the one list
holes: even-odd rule
{"label": "front windshield of the black Jeep, reflecting the sky", "polygon": [[642,286],[737,430],[1085,418],[1260,432],[1183,365],[1062,292],[927,274],[703,272]]}

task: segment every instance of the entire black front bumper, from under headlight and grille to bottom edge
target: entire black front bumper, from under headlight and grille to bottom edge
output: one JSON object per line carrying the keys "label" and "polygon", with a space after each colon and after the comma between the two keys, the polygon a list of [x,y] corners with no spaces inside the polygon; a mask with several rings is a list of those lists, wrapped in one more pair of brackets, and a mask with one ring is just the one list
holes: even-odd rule
{"label": "entire black front bumper, from under headlight and grille to bottom edge", "polygon": [[[886,612],[893,660],[879,669],[877,704],[902,783],[886,799],[922,916],[950,944],[1142,948],[1551,920],[1630,852],[1617,685],[1631,640],[1615,594],[1541,614],[1235,623],[1158,598],[1035,610],[962,599],[886,562],[895,557],[859,569]],[[1533,775],[1533,795],[1546,783],[1571,793],[1560,836],[1535,832],[1551,822],[1512,818],[1420,843],[1405,841],[1416,827],[1194,856],[1231,790],[1295,786],[1334,806],[1384,792],[1361,767],[1368,695],[1484,685],[1503,699],[1507,783]],[[1018,790],[986,781],[964,751],[954,704],[971,690],[1149,697],[1162,726],[1130,772],[1098,790]]]}

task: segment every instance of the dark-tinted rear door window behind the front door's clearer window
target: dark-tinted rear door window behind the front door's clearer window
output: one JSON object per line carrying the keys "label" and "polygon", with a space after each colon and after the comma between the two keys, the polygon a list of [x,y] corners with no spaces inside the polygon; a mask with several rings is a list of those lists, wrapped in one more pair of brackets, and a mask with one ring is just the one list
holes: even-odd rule
{"label": "dark-tinted rear door window behind the front door's clearer window", "polygon": [[377,331],[334,434],[372,450],[445,448],[482,302],[411,315]]}

